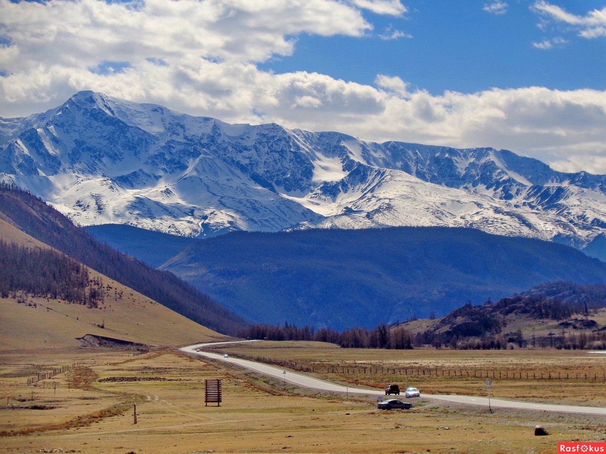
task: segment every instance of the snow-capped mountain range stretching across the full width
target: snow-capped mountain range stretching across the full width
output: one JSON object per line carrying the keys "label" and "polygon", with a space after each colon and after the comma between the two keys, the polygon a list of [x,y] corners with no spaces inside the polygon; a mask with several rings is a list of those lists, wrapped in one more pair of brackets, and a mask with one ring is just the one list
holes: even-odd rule
{"label": "snow-capped mountain range stretching across the full width", "polygon": [[451,226],[577,248],[606,229],[606,176],[493,148],[231,125],[81,91],[0,117],[0,180],[80,225],[231,230]]}

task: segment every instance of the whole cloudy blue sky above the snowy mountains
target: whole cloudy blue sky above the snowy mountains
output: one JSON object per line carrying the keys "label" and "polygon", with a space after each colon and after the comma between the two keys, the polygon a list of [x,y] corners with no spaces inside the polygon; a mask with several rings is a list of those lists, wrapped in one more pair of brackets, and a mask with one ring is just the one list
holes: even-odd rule
{"label": "whole cloudy blue sky above the snowy mountains", "polygon": [[606,174],[606,0],[0,0],[0,116],[79,90]]}

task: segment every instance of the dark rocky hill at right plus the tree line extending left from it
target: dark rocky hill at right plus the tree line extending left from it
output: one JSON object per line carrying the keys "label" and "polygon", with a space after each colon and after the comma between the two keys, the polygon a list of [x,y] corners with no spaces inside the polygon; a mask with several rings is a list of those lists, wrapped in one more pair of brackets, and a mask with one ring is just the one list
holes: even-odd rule
{"label": "dark rocky hill at right plus the tree line extending left from it", "polygon": [[341,347],[413,349],[606,349],[606,285],[558,281],[493,303],[464,304],[443,318],[336,331],[255,324],[239,337],[321,341]]}

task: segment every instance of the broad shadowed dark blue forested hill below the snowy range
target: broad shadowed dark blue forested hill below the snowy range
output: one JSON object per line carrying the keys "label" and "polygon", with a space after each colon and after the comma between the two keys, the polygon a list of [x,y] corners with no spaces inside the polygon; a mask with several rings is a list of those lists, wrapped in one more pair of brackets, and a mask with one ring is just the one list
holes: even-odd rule
{"label": "broad shadowed dark blue forested hill below the snowy range", "polygon": [[169,260],[253,322],[374,327],[558,280],[606,282],[606,264],[564,245],[474,229],[233,232]]}

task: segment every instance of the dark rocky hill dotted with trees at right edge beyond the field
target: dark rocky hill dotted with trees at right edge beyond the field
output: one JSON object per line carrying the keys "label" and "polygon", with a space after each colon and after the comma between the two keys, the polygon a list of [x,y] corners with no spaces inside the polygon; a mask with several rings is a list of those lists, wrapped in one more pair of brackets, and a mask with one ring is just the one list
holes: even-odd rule
{"label": "dark rocky hill dotted with trees at right edge beyond the field", "polygon": [[606,347],[606,285],[558,281],[474,306],[415,329],[418,344],[458,349],[516,347]]}

